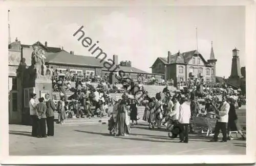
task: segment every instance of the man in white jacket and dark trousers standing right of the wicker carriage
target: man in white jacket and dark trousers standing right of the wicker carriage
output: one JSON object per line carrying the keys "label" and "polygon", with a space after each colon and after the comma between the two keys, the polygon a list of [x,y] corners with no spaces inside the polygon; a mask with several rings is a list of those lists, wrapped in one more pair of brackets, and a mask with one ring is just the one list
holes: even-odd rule
{"label": "man in white jacket and dark trousers standing right of the wicker carriage", "polygon": [[219,110],[219,118],[215,126],[215,134],[214,139],[210,140],[211,142],[218,141],[218,135],[220,133],[220,129],[223,134],[223,138],[221,142],[227,142],[227,122],[228,122],[228,112],[229,112],[230,105],[227,102],[227,96],[222,96],[222,105]]}

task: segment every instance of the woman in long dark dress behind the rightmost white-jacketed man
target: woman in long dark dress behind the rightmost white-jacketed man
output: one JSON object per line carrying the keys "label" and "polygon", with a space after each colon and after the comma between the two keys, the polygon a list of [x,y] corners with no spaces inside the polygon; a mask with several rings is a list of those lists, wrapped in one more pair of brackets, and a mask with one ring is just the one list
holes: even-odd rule
{"label": "woman in long dark dress behind the rightmost white-jacketed man", "polygon": [[231,140],[230,131],[238,131],[241,134],[242,139],[245,140],[245,134],[243,134],[242,132],[241,126],[238,121],[236,108],[234,106],[236,101],[233,98],[229,98],[228,103],[230,105],[229,112],[228,112],[228,123],[227,123],[228,140]]}

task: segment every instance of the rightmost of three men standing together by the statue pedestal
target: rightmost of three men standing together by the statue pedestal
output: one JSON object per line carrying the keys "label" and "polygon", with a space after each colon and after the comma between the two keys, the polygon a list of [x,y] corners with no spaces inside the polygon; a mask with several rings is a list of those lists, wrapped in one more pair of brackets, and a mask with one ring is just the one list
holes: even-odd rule
{"label": "rightmost of three men standing together by the statue pedestal", "polygon": [[50,95],[46,94],[46,124],[47,124],[47,135],[54,135],[54,110],[56,110],[56,106],[52,99],[50,99]]}

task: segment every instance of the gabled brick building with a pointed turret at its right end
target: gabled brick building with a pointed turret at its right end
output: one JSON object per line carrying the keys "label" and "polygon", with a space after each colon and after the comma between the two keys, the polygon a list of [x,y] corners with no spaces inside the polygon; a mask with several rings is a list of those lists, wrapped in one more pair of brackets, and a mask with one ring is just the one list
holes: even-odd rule
{"label": "gabled brick building with a pointed turret at its right end", "polygon": [[165,79],[176,83],[187,80],[190,76],[201,77],[208,82],[216,82],[216,62],[211,44],[210,59],[205,60],[197,50],[176,54],[168,51],[167,58],[158,57],[152,65],[152,73],[164,74]]}

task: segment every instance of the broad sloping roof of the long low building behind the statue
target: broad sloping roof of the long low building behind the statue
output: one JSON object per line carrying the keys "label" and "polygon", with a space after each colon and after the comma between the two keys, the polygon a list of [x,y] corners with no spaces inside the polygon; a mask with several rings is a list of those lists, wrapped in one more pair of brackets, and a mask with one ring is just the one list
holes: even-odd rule
{"label": "broad sloping roof of the long low building behind the statue", "polygon": [[65,50],[57,53],[46,53],[47,63],[52,64],[67,64],[77,66],[92,66],[92,67],[103,67],[102,63],[99,62],[95,57],[89,56],[78,56],[71,54]]}

